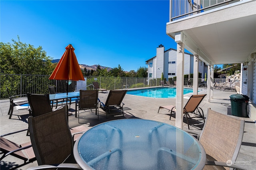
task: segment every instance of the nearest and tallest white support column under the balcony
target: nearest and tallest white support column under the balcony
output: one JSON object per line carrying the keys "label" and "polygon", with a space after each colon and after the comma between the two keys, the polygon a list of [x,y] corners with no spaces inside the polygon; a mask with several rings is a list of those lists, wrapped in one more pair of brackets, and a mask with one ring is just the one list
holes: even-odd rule
{"label": "nearest and tallest white support column under the balcony", "polygon": [[177,43],[176,124],[183,127],[184,43]]}

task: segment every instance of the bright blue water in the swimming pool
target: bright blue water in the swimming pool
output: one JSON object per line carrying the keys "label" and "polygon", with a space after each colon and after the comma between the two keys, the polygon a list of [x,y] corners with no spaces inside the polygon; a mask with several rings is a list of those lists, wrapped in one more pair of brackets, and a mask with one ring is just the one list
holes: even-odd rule
{"label": "bright blue water in the swimming pool", "polygon": [[[184,94],[193,93],[193,89],[185,89]],[[175,87],[157,87],[150,89],[139,89],[139,90],[130,90],[126,94],[137,95],[144,97],[154,97],[154,98],[174,98],[176,97],[176,88]]]}

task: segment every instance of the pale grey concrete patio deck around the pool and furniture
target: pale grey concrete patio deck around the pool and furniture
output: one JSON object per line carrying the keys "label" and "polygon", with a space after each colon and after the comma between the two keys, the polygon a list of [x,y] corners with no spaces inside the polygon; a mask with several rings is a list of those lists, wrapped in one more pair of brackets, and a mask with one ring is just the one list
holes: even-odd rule
{"label": "pale grey concrete patio deck around the pool and furniture", "polygon": [[[206,90],[203,88],[199,94],[206,94]],[[207,118],[207,109],[211,108],[214,111],[225,115],[231,115],[231,104],[230,104],[230,95],[236,94],[236,92],[230,91],[220,91],[214,89],[214,97],[211,99],[211,102],[207,102],[207,97],[204,98],[202,103],[199,105],[203,111],[204,116]],[[184,96],[184,104],[188,101],[190,95],[187,94]],[[99,93],[99,99],[105,103],[108,93]],[[70,128],[82,125],[83,122],[88,129],[98,125],[99,123],[103,123],[105,121],[111,121],[114,119],[126,119],[126,118],[140,118],[140,119],[149,119],[154,121],[164,122],[170,125],[175,125],[175,114],[172,115],[171,121],[169,120],[170,114],[166,109],[160,109],[158,113],[159,106],[164,105],[175,105],[176,99],[159,99],[159,98],[150,98],[150,97],[141,97],[141,96],[134,96],[128,95],[124,97],[123,103],[124,105],[124,117],[118,116],[109,116],[106,119],[106,113],[104,113],[101,109],[99,109],[99,120],[98,117],[95,115],[95,111],[80,111],[80,123],[78,123],[78,118],[75,117],[75,105],[72,104],[70,111],[73,113],[72,116],[69,116],[69,125]],[[17,130],[28,128],[28,111],[27,110],[17,110],[14,108],[14,112],[12,115],[12,119],[8,119],[9,115],[7,115],[9,110],[9,99],[8,100],[0,100],[0,134],[6,134],[10,132],[14,132]],[[82,118],[81,118],[82,117]],[[254,120],[249,118],[245,119],[245,128],[244,128],[244,137],[242,140],[242,146],[240,148],[240,152],[238,154],[238,158],[236,159],[236,163],[244,166],[248,170],[255,170],[256,169],[256,123]],[[185,122],[185,121],[184,121]],[[195,122],[191,122],[195,123]],[[202,130],[202,123],[200,121],[196,121],[193,127],[194,132],[200,133]],[[221,127],[220,127],[221,128]],[[188,127],[186,123],[183,126],[184,130],[187,130]],[[30,141],[30,137],[26,136],[25,132],[20,132],[16,135],[10,135],[8,137],[9,140],[16,142],[18,144],[22,144],[24,142]],[[11,168],[12,165],[15,164],[22,164],[23,161],[17,159],[13,156],[7,156],[1,161],[1,170],[5,170]],[[25,170],[29,167],[37,166],[37,162],[34,161],[30,164],[22,166],[21,170]]]}

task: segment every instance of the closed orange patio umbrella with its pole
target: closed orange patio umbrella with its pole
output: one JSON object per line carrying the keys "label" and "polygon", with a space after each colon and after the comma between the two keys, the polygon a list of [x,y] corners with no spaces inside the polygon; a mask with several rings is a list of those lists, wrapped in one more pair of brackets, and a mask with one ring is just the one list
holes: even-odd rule
{"label": "closed orange patio umbrella with its pole", "polygon": [[[79,67],[74,50],[75,49],[71,44],[66,46],[66,51],[62,55],[60,61],[58,62],[57,66],[55,67],[49,79],[75,80],[75,81],[84,80],[84,76]],[[67,95],[68,95],[68,85],[67,85]]]}

